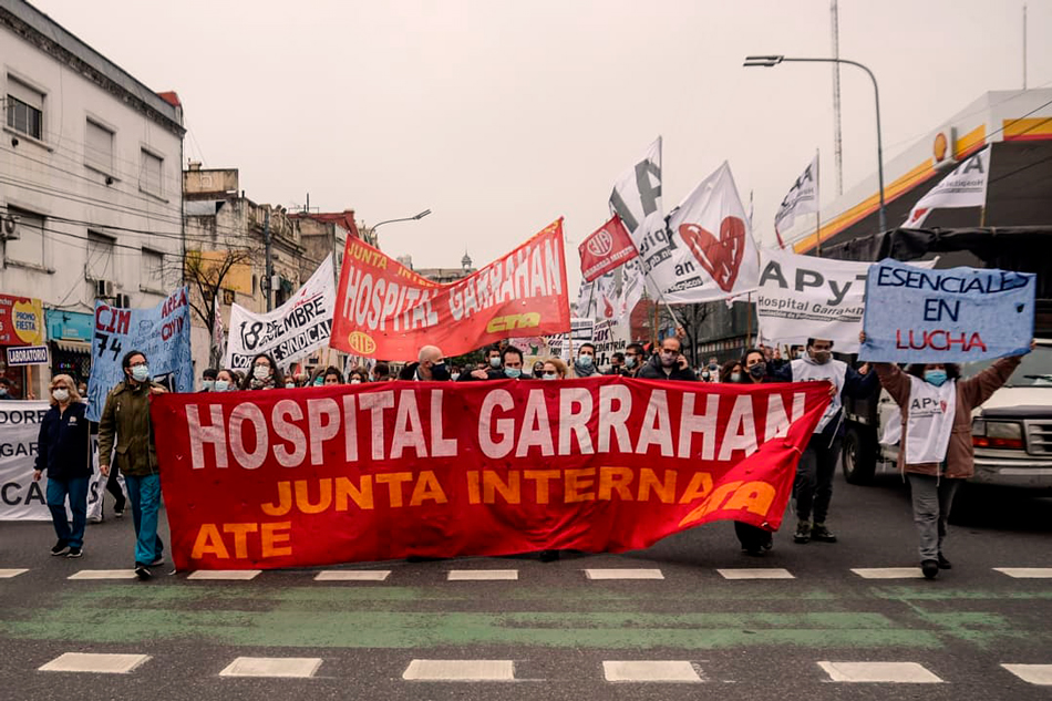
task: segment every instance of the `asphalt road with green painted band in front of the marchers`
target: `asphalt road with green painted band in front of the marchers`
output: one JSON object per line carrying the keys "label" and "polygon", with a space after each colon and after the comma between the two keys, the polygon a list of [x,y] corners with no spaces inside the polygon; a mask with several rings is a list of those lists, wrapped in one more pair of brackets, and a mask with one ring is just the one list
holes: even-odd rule
{"label": "asphalt road with green painted band in front of the marchers", "polygon": [[[0,579],[0,699],[65,701],[74,688],[92,699],[194,701],[1052,698],[1052,687],[1002,667],[1052,666],[1052,499],[980,499],[951,527],[956,566],[937,581],[866,579],[852,569],[917,566],[907,493],[895,477],[874,487],[837,480],[835,545],[793,544],[787,519],[763,558],[742,555],[731,526],[715,524],[625,556],[339,569],[389,571],[382,581],[316,581],[320,570],[210,581],[171,568],[149,583],[68,579],[126,573],[130,518],[90,526],[79,560],[48,556],[50,524],[0,524],[0,568],[28,570]],[[720,571],[740,568],[792,578]],[[994,568],[1046,569],[1018,578]],[[599,569],[661,578],[589,578]],[[452,570],[517,579],[450,581]],[[131,659],[138,666],[124,674],[39,670],[69,652],[147,659]],[[297,669],[312,676],[223,676],[254,657],[305,658]],[[623,661],[663,663],[609,664]],[[834,681],[858,673],[931,683]],[[426,680],[433,674],[504,680]],[[608,680],[619,674],[649,680]]]}

